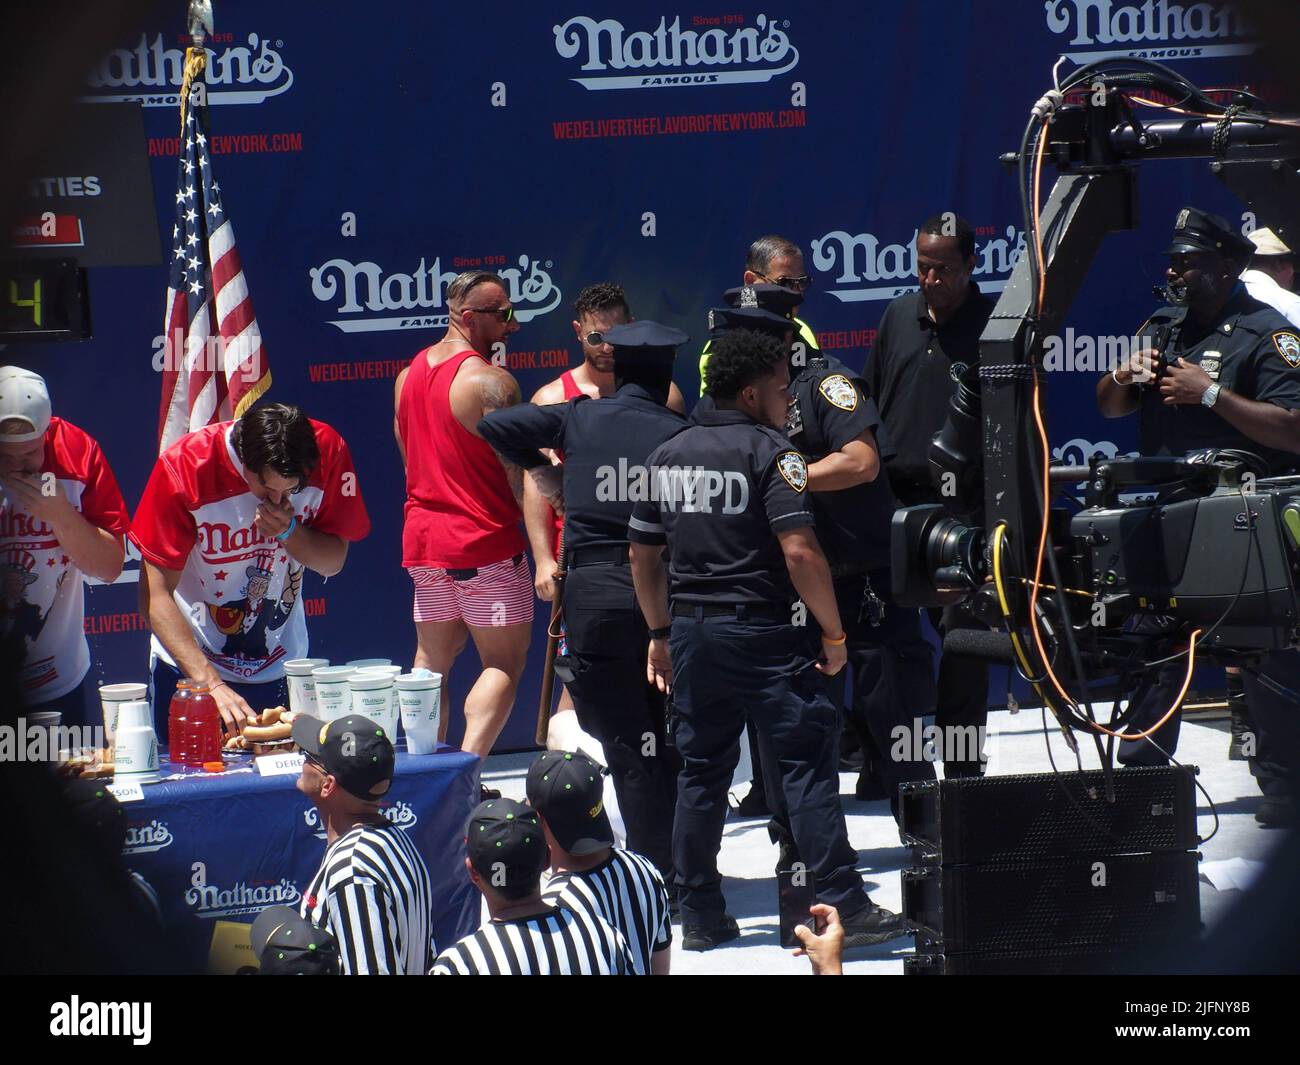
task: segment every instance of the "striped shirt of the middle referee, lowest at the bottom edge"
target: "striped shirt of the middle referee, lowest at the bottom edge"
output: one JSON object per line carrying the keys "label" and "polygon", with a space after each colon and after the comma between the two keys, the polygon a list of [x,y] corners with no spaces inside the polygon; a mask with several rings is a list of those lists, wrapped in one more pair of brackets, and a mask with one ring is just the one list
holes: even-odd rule
{"label": "striped shirt of the middle referee, lowest at the bottom edge", "polygon": [[430,977],[628,977],[623,936],[594,914],[546,913],[489,921],[443,951]]}

